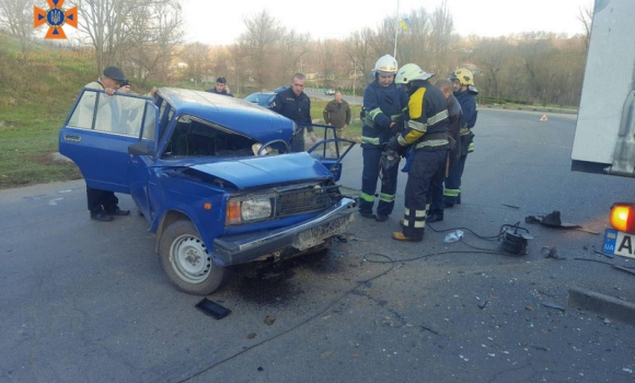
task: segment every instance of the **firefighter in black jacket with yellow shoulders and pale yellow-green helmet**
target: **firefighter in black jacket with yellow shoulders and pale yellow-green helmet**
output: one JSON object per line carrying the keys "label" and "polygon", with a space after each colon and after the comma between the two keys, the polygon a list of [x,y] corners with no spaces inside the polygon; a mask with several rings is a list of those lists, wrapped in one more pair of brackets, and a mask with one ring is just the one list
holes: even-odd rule
{"label": "firefighter in black jacket with yellow shoulders and pale yellow-green helmet", "polygon": [[427,73],[415,63],[400,69],[395,82],[404,84],[409,96],[409,119],[405,130],[390,139],[388,148],[400,151],[409,147],[406,169],[405,211],[402,232],[394,232],[397,241],[424,240],[427,210],[430,204],[430,179],[446,164],[448,140],[448,102],[443,93],[428,80]]}

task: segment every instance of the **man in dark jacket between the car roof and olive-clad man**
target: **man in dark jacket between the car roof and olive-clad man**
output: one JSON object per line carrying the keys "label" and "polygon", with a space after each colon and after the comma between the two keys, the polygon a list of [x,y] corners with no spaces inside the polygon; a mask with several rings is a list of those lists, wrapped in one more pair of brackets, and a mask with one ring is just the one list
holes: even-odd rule
{"label": "man in dark jacket between the car roof and olive-clad man", "polygon": [[291,137],[291,152],[303,152],[304,148],[304,128],[311,137],[311,141],[316,142],[318,138],[313,134],[312,126],[302,126],[311,124],[311,98],[304,93],[304,82],[307,78],[302,73],[296,73],[291,79],[291,86],[276,94],[272,109],[282,116],[292,119],[298,124],[298,130]]}

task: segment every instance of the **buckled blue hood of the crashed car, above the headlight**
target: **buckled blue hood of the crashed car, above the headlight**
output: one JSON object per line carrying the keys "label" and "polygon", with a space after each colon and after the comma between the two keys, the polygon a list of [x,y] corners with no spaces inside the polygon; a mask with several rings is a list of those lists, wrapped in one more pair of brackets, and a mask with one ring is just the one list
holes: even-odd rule
{"label": "buckled blue hood of the crashed car, above the headlight", "polygon": [[241,189],[333,176],[326,167],[308,153],[254,156],[244,160],[231,159],[230,161],[192,164],[189,167],[223,178]]}

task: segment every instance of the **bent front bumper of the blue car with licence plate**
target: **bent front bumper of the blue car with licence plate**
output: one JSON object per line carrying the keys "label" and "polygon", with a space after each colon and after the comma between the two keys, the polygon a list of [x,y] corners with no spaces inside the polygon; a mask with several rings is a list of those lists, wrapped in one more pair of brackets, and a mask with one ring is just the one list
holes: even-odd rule
{"label": "bent front bumper of the blue car with licence plate", "polygon": [[305,251],[343,234],[353,221],[354,207],[353,199],[343,198],[314,219],[292,227],[216,239],[213,255],[221,260],[223,266],[229,266],[254,260],[263,255],[287,248]]}

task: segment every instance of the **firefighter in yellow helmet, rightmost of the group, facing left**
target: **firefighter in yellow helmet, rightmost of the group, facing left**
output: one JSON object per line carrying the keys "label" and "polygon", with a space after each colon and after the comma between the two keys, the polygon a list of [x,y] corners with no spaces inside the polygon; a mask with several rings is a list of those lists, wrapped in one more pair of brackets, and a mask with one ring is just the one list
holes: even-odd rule
{"label": "firefighter in yellow helmet, rightmost of the group, facing left", "polygon": [[451,167],[446,178],[446,190],[443,192],[443,206],[451,208],[454,204],[461,204],[461,177],[465,169],[467,153],[474,151],[474,134],[472,128],[476,124],[478,105],[474,96],[478,94],[474,86],[474,74],[465,69],[459,68],[449,78],[452,81],[454,97],[461,104],[463,116],[461,117],[461,156]]}

